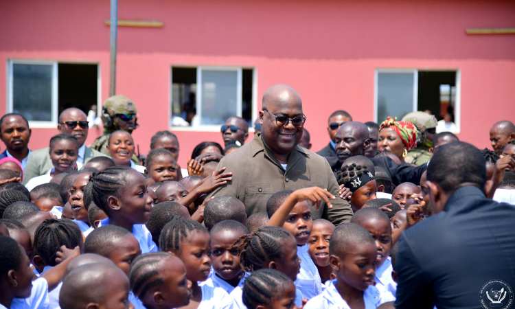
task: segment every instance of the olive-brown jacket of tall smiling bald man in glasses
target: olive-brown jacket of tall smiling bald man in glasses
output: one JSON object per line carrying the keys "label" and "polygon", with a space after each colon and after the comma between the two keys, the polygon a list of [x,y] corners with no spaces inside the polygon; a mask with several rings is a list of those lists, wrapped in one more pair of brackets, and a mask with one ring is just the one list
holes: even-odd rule
{"label": "olive-brown jacket of tall smiling bald man in glasses", "polygon": [[347,201],[339,198],[339,186],[328,161],[310,150],[296,146],[288,157],[286,171],[263,144],[260,135],[238,150],[231,152],[218,163],[217,170],[226,167],[233,173],[233,180],[218,187],[208,195],[235,196],[247,208],[247,216],[266,211],[266,202],[275,192],[298,190],[303,187],[327,188],[336,200],[332,209],[322,203],[318,211],[312,207],[312,217],[327,218],[334,225],[349,222],[352,209]]}

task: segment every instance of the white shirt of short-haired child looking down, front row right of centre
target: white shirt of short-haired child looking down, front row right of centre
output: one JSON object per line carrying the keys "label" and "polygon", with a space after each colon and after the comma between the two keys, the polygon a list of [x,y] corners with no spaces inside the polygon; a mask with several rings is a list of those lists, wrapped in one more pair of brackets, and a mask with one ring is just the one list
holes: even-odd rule
{"label": "white shirt of short-haired child looking down, front row right of centre", "polygon": [[[304,306],[304,309],[350,309],[347,301],[341,298],[340,293],[336,290],[336,279],[334,279],[321,295],[313,297]],[[376,309],[380,303],[380,293],[375,286],[369,286],[363,293],[365,301],[365,309]]]}

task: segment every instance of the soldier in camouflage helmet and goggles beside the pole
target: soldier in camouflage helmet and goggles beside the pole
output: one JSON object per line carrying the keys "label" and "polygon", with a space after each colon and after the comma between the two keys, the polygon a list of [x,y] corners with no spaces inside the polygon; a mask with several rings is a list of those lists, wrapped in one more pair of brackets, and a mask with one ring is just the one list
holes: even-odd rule
{"label": "soldier in camouflage helmet and goggles beside the pole", "polygon": [[[113,95],[108,98],[102,108],[104,135],[97,137],[90,147],[108,155],[107,144],[111,133],[116,130],[125,130],[132,134],[138,125],[136,113],[136,104],[124,95]],[[131,160],[134,163],[141,164],[136,154],[133,155]]]}

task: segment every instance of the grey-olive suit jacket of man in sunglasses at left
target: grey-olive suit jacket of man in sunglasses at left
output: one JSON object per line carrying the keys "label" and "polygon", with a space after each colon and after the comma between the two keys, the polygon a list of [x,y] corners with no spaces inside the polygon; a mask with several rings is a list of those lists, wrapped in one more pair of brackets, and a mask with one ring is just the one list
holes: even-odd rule
{"label": "grey-olive suit jacket of man in sunglasses at left", "polygon": [[[94,157],[107,156],[97,150],[86,147],[86,150],[84,150],[84,163],[87,163]],[[51,168],[54,168],[54,165],[52,164],[52,159],[50,159],[49,147],[30,152],[27,165],[25,165],[25,170],[23,170],[23,184],[26,185],[30,179],[45,174]]]}

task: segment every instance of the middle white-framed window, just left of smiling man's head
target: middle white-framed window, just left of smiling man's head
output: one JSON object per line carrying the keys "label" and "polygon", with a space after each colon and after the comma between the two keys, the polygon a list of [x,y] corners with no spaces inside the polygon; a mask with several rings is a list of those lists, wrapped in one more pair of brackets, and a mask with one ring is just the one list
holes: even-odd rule
{"label": "middle white-framed window, just left of smiling man's head", "polygon": [[170,127],[218,131],[231,116],[253,127],[257,108],[256,71],[244,67],[172,66]]}

